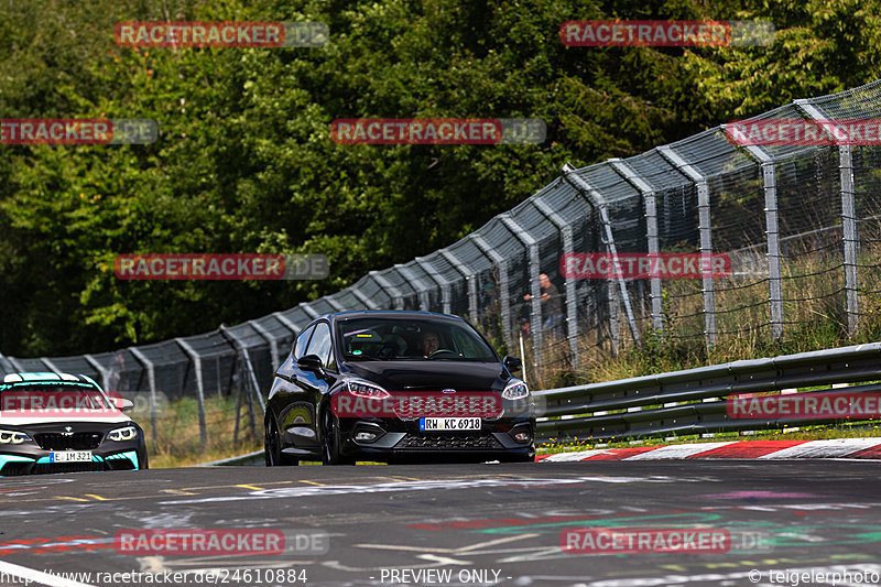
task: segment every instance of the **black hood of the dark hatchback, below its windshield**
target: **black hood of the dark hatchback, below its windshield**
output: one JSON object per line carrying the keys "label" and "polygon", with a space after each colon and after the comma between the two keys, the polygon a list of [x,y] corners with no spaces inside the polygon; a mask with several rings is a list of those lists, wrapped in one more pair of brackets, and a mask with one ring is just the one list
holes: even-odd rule
{"label": "black hood of the dark hatchback, below its windshield", "polygon": [[508,380],[498,362],[365,361],[347,363],[345,372],[389,391],[501,391]]}

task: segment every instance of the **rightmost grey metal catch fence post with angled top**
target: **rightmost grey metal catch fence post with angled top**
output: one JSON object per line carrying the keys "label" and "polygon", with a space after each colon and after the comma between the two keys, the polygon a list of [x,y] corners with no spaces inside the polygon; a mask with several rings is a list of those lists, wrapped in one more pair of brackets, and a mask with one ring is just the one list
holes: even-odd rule
{"label": "rightmost grey metal catch fence post with angled top", "polygon": [[[795,100],[808,118],[829,120],[829,118],[807,100]],[[859,273],[857,256],[859,237],[857,235],[857,207],[853,203],[853,162],[849,144],[838,145],[838,172],[841,191],[841,241],[845,246],[845,297],[847,304],[847,330],[853,334],[859,325]]]}

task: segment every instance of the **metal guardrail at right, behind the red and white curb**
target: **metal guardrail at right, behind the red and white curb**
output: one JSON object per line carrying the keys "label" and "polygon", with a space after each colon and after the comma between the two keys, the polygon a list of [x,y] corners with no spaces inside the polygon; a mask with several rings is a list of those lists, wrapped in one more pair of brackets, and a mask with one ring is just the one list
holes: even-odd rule
{"label": "metal guardrail at right, behind the red and white curb", "polygon": [[541,416],[540,438],[609,439],[841,422],[841,418],[807,417],[731,418],[726,412],[725,398],[866,382],[872,383],[848,387],[847,391],[881,391],[881,343],[535,391],[533,395]]}

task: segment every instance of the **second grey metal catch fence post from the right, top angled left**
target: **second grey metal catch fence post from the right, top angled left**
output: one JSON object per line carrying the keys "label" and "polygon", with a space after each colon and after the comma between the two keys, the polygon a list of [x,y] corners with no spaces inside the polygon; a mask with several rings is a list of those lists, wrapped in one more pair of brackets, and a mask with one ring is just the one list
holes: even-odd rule
{"label": "second grey metal catch fence post from the right, top angled left", "polygon": [[744,146],[762,165],[764,188],[764,224],[768,242],[768,302],[771,315],[771,337],[783,336],[783,285],[780,269],[780,220],[777,218],[777,176],[774,159],[761,146]]}

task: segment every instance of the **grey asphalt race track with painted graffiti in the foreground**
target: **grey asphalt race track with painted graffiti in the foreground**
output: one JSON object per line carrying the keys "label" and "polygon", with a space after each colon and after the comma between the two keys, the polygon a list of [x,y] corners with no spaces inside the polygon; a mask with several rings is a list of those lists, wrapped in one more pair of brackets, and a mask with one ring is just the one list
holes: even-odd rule
{"label": "grey asphalt race track with painted graffiti in the foreground", "polygon": [[[0,585],[24,585],[25,576],[40,579],[31,585],[138,584],[95,576],[64,583],[44,570],[105,574],[97,579],[152,573],[153,583],[139,576],[142,585],[185,570],[193,585],[793,585],[793,573],[811,569],[815,580],[796,577],[797,585],[831,585],[816,575],[827,572],[860,573],[862,583],[851,575],[850,584],[873,585],[881,573],[880,467],[536,463],[3,478]],[[566,529],[634,526],[724,529],[739,537],[714,554],[561,548]],[[120,552],[117,533],[141,529],[280,530],[304,542],[274,555]]]}

